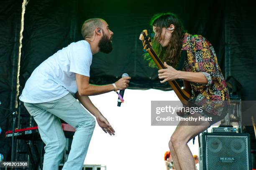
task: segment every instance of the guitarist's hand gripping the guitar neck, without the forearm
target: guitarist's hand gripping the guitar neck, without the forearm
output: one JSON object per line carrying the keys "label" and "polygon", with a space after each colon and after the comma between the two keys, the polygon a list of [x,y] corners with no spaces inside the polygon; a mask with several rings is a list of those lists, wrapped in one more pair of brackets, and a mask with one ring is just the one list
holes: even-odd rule
{"label": "guitarist's hand gripping the guitar neck, without the forearm", "polygon": [[164,62],[164,66],[166,67],[166,69],[161,69],[158,71],[158,73],[159,73],[158,78],[164,79],[164,80],[160,81],[161,83],[164,83],[169,80],[179,79],[179,77],[178,77],[179,71],[174,69],[172,66],[167,65],[166,62]]}

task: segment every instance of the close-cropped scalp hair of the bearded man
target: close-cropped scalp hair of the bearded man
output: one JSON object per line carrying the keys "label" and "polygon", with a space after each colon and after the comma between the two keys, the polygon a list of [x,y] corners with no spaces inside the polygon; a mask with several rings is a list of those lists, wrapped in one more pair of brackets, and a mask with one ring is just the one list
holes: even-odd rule
{"label": "close-cropped scalp hair of the bearded man", "polygon": [[92,37],[95,28],[102,28],[102,22],[105,22],[105,20],[101,18],[91,18],[89,20],[84,21],[82,25],[83,38]]}

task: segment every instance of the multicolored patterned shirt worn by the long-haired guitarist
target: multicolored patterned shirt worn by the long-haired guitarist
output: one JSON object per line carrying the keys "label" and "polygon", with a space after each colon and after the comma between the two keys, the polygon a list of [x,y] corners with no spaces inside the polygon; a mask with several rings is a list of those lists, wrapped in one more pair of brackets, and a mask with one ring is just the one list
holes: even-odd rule
{"label": "multicolored patterned shirt worn by the long-haired guitarist", "polygon": [[210,114],[220,116],[223,108],[229,104],[229,95],[212,45],[203,36],[185,33],[182,50],[187,51],[183,70],[201,72],[208,80],[207,84],[190,82],[190,100],[195,101]]}

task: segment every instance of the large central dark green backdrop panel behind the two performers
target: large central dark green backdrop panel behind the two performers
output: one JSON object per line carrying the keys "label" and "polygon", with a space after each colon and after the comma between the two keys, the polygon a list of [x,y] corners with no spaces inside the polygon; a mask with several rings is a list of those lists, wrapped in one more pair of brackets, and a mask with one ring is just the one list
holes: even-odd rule
{"label": "large central dark green backdrop panel behind the two performers", "polygon": [[225,4],[195,1],[164,4],[138,1],[52,1],[33,0],[28,3],[25,17],[23,57],[20,80],[24,83],[42,61],[74,41],[82,40],[81,26],[84,20],[99,17],[105,19],[114,32],[113,52],[93,56],[90,83],[110,84],[123,73],[132,77],[131,89],[169,90],[168,84],[160,84],[157,70],[149,68],[143,60],[141,41],[143,29],[152,30],[149,20],[155,13],[172,11],[184,22],[192,34],[202,34],[210,40],[219,53],[220,64],[224,55],[223,22]]}

